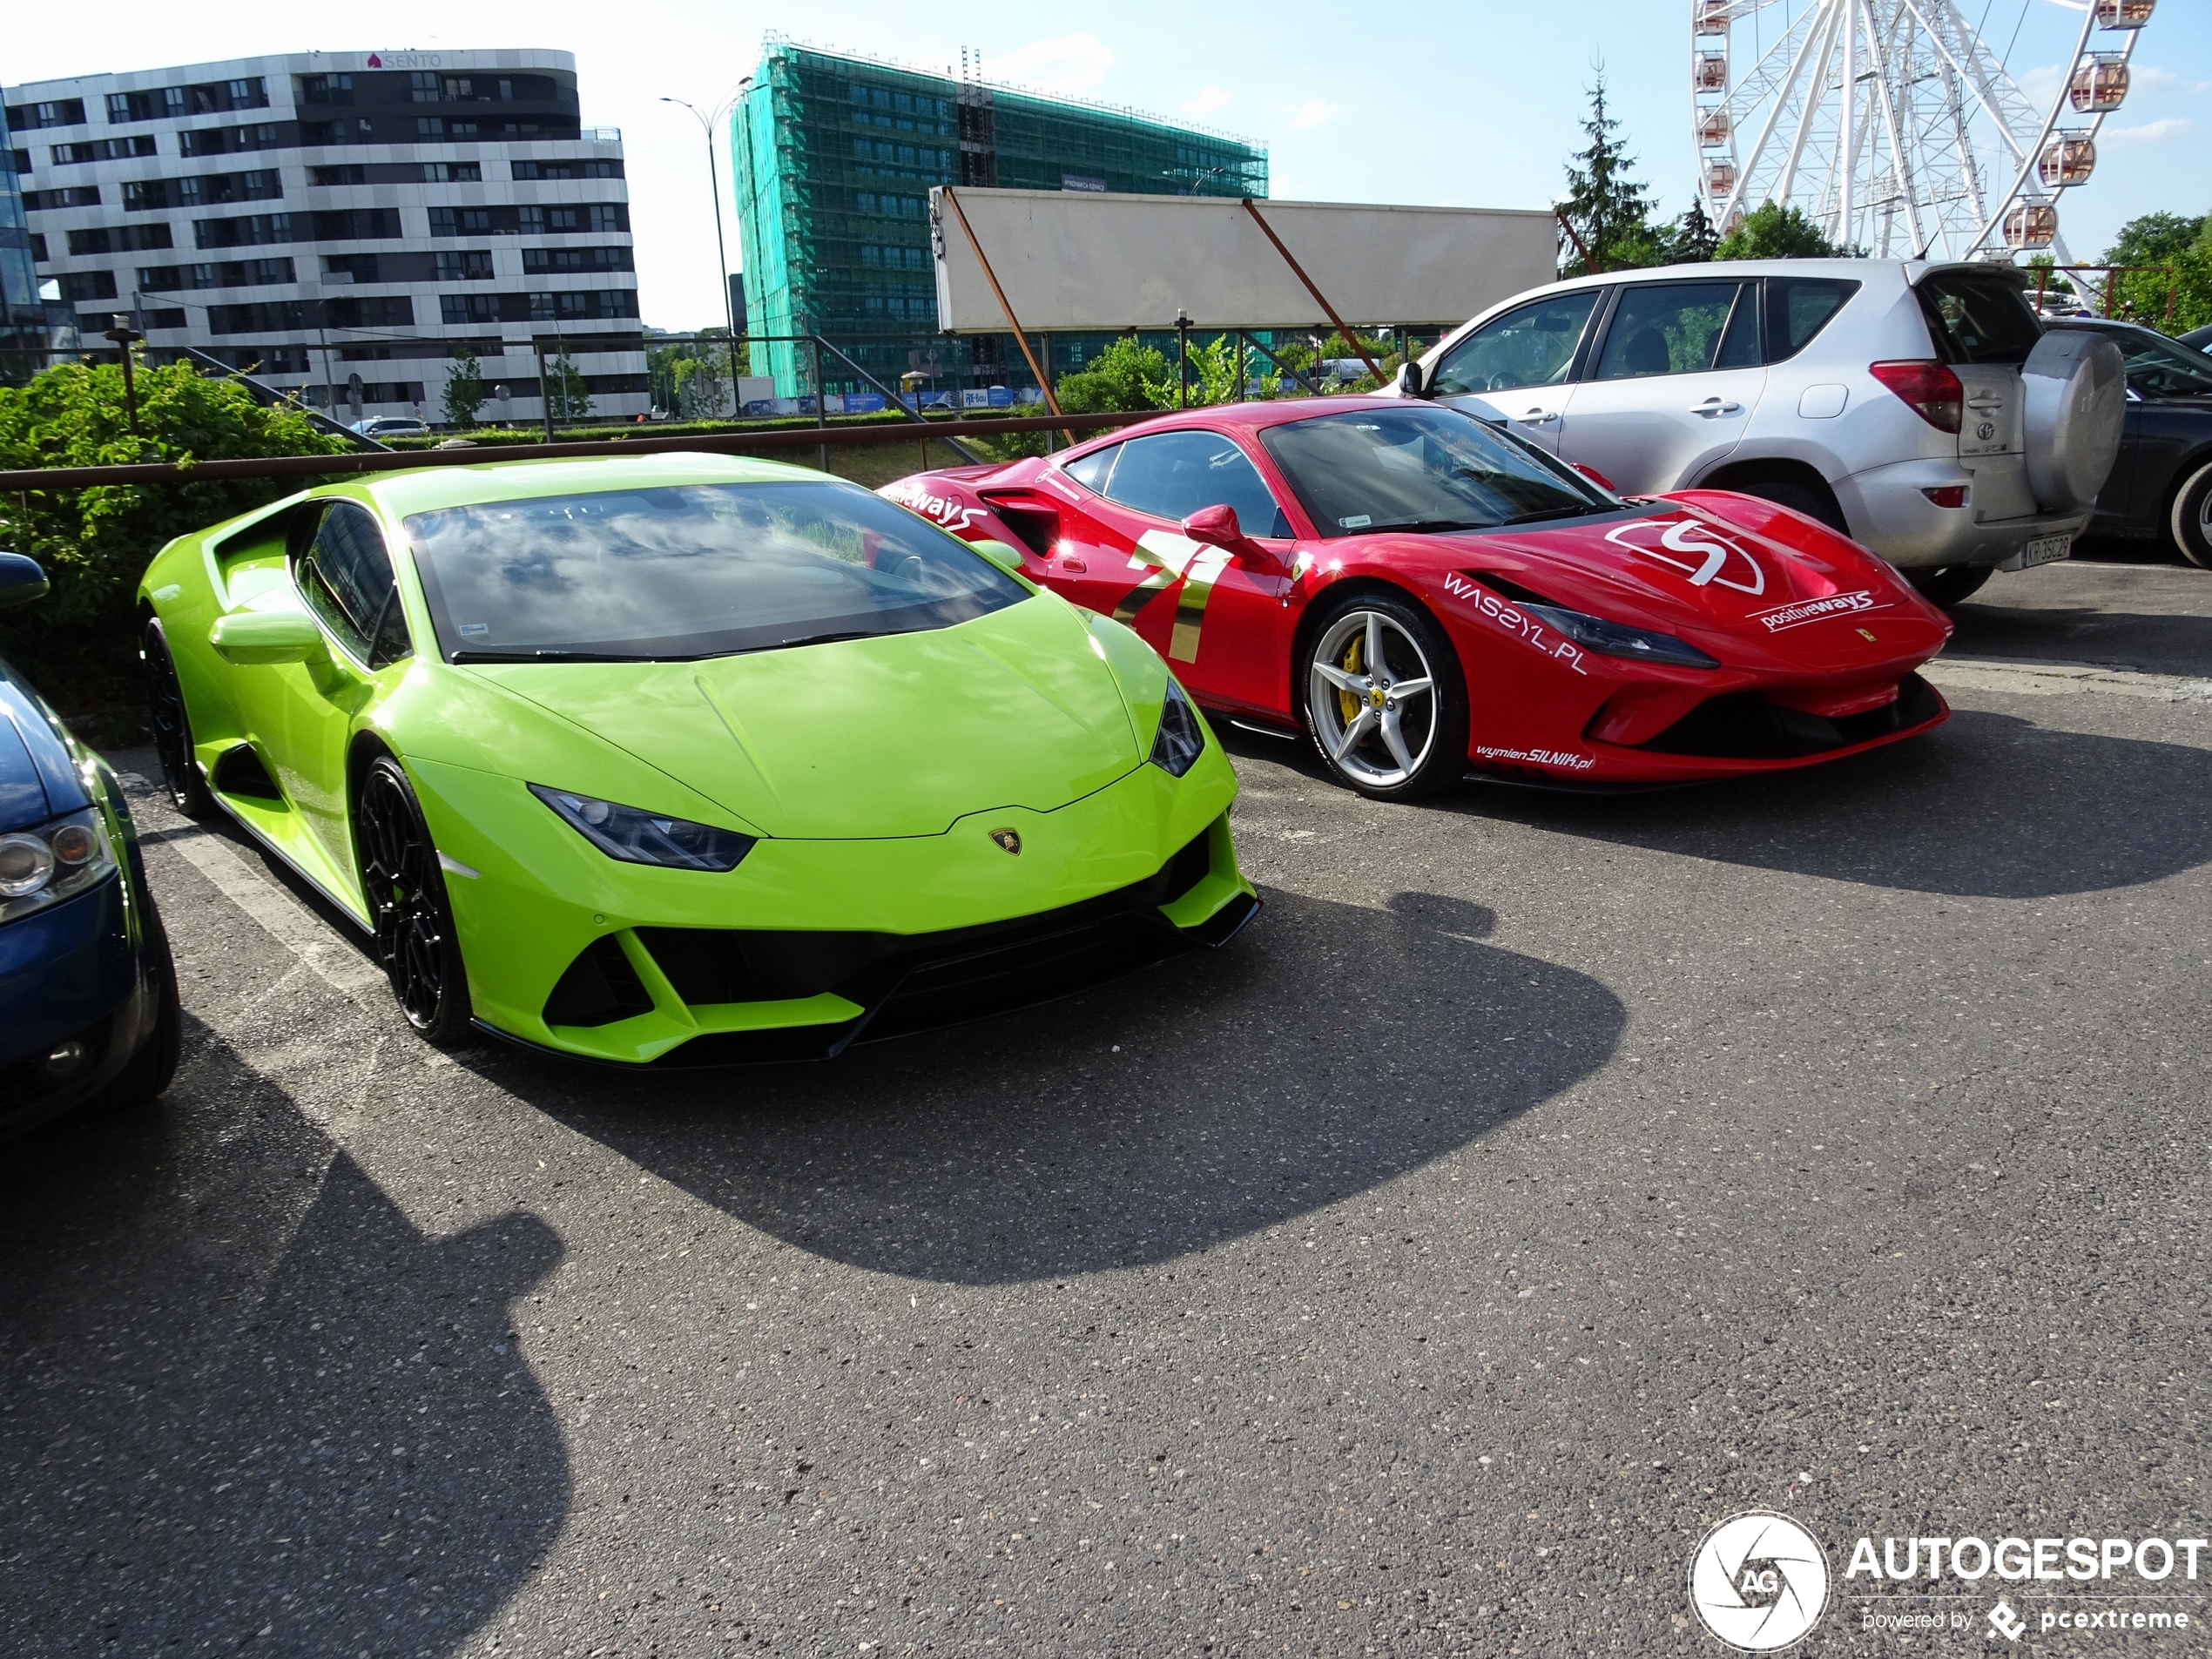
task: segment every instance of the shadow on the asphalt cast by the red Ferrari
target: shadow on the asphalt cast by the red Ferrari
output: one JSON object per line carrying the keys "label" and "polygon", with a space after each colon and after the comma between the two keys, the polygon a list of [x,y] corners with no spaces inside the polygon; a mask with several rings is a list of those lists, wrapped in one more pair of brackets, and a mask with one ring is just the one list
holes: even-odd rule
{"label": "shadow on the asphalt cast by the red Ferrari", "polygon": [[2212,860],[2212,752],[1962,708],[1798,772],[1628,796],[1469,785],[1438,807],[1624,847],[1955,898],[2053,898]]}

